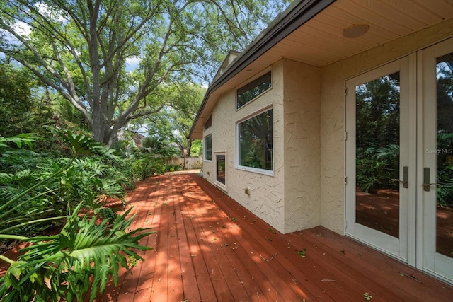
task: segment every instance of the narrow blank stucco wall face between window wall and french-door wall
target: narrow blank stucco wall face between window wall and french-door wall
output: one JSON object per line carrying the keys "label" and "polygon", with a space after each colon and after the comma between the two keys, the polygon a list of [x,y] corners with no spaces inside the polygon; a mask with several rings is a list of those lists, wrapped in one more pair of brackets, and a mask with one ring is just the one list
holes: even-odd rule
{"label": "narrow blank stucco wall face between window wall and french-door wall", "polygon": [[284,61],[285,233],[319,226],[321,69]]}

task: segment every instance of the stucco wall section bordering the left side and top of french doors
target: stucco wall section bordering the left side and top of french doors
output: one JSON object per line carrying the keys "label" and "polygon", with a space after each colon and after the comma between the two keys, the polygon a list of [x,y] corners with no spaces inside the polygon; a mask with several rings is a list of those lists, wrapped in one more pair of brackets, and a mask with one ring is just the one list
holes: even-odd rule
{"label": "stucco wall section bordering the left side and top of french doors", "polygon": [[[321,79],[321,225],[344,233],[345,81],[445,40],[453,20],[433,25],[374,47],[322,69]],[[354,138],[350,138],[354,139]]]}

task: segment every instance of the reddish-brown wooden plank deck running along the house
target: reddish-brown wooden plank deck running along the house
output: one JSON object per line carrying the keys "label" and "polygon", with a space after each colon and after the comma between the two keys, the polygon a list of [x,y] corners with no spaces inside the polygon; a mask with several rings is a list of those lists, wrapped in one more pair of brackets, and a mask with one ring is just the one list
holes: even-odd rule
{"label": "reddish-brown wooden plank deck running along the house", "polygon": [[153,250],[97,301],[453,301],[452,286],[326,228],[282,235],[197,174],[149,178],[127,204]]}

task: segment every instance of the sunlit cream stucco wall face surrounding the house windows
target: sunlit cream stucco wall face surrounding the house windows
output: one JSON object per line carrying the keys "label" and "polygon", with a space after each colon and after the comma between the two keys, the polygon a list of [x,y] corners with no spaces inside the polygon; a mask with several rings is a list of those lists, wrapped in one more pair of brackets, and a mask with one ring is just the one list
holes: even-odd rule
{"label": "sunlit cream stucco wall face surrounding the house windows", "polygon": [[[236,89],[219,98],[212,112],[212,127],[204,136],[212,133],[212,162],[203,163],[203,176],[214,185],[224,190],[230,197],[270,223],[278,231],[284,231],[285,209],[283,202],[283,73],[282,62],[264,69],[251,80],[272,71],[272,88],[255,100],[236,110]],[[256,115],[263,108],[273,108],[273,175],[241,170],[236,162],[236,124]],[[216,182],[215,154],[225,152],[226,182]],[[209,175],[207,174],[209,173]],[[245,194],[248,188],[250,194]]]}

